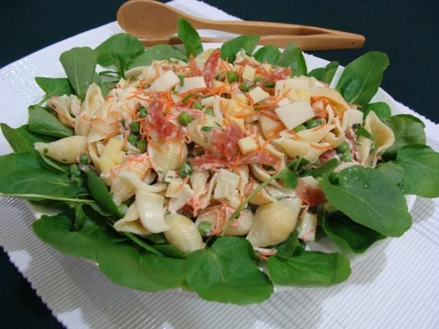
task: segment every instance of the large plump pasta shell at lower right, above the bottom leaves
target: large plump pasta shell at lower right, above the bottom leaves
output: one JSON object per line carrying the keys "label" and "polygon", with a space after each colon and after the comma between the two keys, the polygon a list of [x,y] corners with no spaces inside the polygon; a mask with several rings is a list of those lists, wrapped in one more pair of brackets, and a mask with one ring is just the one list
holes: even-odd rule
{"label": "large plump pasta shell at lower right, above the bottom leaves", "polygon": [[300,199],[283,199],[256,210],[247,240],[253,247],[267,247],[285,241],[296,228]]}

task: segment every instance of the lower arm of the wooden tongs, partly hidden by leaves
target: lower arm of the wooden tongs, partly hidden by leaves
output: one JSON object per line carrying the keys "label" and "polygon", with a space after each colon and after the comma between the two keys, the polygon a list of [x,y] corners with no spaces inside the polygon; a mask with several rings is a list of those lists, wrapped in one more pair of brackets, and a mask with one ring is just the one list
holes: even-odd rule
{"label": "lower arm of the wooden tongs, partly hidden by leaves", "polygon": [[[355,37],[354,37],[355,36]],[[143,45],[150,47],[154,45],[169,44],[180,45],[182,42],[177,36],[169,36],[166,38],[147,38],[140,39]],[[224,43],[230,39],[226,38],[206,38],[201,37],[202,42]],[[352,49],[361,48],[364,45],[364,36],[357,34],[315,34],[302,36],[261,36],[259,45],[275,45],[285,48],[294,42],[302,50],[329,50],[329,49]]]}

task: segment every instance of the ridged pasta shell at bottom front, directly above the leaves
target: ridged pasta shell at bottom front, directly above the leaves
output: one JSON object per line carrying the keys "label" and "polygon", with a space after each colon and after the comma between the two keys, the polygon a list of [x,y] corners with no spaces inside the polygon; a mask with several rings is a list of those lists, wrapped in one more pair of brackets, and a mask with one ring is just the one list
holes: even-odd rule
{"label": "ridged pasta shell at bottom front, directly above the leaves", "polygon": [[202,236],[191,219],[176,214],[167,215],[165,221],[169,229],[164,234],[171,245],[175,245],[181,252],[193,252],[202,248]]}

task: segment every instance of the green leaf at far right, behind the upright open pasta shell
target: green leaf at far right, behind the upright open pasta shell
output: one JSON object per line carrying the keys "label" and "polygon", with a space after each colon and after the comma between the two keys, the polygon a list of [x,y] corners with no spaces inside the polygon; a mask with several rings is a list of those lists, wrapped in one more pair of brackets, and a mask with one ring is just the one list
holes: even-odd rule
{"label": "green leaf at far right, behind the upright open pasta shell", "polygon": [[395,135],[395,143],[385,150],[385,158],[396,158],[396,153],[405,145],[425,144],[424,123],[413,115],[397,114],[381,120]]}

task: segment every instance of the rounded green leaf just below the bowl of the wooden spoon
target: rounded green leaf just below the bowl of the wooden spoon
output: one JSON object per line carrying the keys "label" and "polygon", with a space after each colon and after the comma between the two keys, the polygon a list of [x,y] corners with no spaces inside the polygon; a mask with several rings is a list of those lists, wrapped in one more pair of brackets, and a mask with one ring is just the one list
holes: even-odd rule
{"label": "rounded green leaf just below the bowl of the wooden spoon", "polygon": [[115,34],[102,42],[95,52],[97,64],[101,66],[116,66],[118,73],[123,76],[128,64],[143,53],[144,47],[138,38],[126,33]]}

